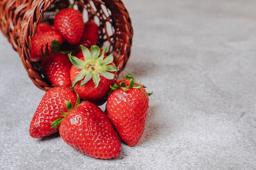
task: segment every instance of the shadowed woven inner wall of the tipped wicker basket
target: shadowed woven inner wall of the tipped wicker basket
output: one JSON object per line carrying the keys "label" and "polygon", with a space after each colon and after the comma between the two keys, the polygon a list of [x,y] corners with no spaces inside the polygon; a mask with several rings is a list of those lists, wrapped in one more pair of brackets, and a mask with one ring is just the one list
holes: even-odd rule
{"label": "shadowed woven inner wall of the tipped wicker basket", "polygon": [[[97,0],[56,0],[53,4],[49,6],[49,8],[44,11],[42,20],[40,22],[45,22],[47,24],[53,25],[53,20],[55,18],[56,9],[67,8],[70,4],[74,4],[74,9],[83,12],[84,22],[94,21],[100,29],[99,39],[97,45],[99,47],[105,48],[108,45],[108,51],[106,53],[115,53],[115,58],[118,57],[121,43],[119,43],[119,48],[117,47],[118,42],[122,41],[122,38],[119,38],[121,33],[118,33],[118,29],[116,30],[116,24],[113,22],[111,11],[106,5]],[[31,37],[33,38],[33,37]],[[117,60],[116,60],[117,61]],[[114,60],[115,62],[115,60]],[[43,74],[40,71],[40,62],[31,62],[35,71],[38,72],[39,75],[44,79],[44,81],[51,86],[49,81],[45,79]]]}

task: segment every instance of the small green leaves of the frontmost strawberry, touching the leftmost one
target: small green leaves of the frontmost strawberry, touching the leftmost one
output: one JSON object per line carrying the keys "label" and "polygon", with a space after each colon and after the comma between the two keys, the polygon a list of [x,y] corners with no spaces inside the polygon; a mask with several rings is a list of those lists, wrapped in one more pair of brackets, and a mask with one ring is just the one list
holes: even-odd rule
{"label": "small green leaves of the frontmost strawberry, touching the leftmost one", "polygon": [[[76,108],[79,104],[80,104],[80,96],[78,95],[78,94],[76,94],[76,96],[77,96],[77,100],[76,100],[76,105],[73,107],[73,105],[72,105],[72,103],[70,102],[70,101],[65,101],[65,103],[66,103],[66,107],[67,107],[67,112],[63,112],[62,110],[61,110],[61,115],[63,116],[63,117],[67,117],[67,115],[68,115],[68,113],[72,110],[72,109],[74,109],[74,108]],[[52,127],[51,128],[58,128],[59,126],[60,126],[60,124],[61,124],[61,121],[63,121],[65,118],[60,118],[60,119],[56,119],[55,121],[53,121],[52,123],[51,123],[51,125],[52,125]]]}

